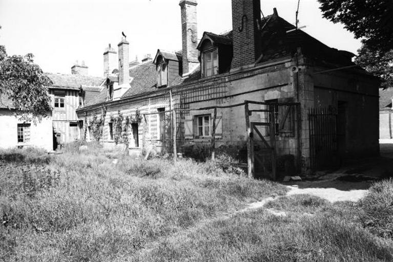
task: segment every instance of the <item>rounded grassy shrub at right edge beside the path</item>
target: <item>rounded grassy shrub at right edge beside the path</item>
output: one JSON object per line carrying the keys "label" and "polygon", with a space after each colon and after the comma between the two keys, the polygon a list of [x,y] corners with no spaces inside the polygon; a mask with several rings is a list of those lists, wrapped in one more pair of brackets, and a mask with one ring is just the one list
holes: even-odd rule
{"label": "rounded grassy shrub at right edge beside the path", "polygon": [[393,179],[371,186],[359,206],[364,227],[379,236],[393,238]]}

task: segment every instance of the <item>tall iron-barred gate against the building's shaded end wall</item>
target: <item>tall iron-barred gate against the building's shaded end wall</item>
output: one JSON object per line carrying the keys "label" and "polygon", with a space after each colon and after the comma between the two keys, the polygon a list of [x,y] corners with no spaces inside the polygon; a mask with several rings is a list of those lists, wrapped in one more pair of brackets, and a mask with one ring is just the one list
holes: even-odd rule
{"label": "tall iron-barred gate against the building's shaded end wall", "polygon": [[309,108],[310,166],[313,170],[339,165],[335,108]]}

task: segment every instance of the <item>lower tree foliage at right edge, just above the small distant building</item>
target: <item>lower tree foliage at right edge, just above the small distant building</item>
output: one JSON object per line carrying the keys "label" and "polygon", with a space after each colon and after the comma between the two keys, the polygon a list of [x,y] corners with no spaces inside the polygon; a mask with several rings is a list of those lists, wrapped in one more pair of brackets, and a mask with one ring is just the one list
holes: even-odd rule
{"label": "lower tree foliage at right edge, just above the small distant building", "polygon": [[380,77],[381,88],[393,86],[393,49],[383,52],[363,45],[355,62],[367,72]]}

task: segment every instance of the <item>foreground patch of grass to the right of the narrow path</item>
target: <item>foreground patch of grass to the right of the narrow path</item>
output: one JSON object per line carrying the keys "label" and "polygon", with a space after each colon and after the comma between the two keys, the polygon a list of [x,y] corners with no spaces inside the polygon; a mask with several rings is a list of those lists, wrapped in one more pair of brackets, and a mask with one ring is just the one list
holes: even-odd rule
{"label": "foreground patch of grass to the right of the narrow path", "polygon": [[169,238],[134,256],[139,261],[392,261],[393,242],[363,229],[356,204],[330,204],[308,195],[279,198]]}

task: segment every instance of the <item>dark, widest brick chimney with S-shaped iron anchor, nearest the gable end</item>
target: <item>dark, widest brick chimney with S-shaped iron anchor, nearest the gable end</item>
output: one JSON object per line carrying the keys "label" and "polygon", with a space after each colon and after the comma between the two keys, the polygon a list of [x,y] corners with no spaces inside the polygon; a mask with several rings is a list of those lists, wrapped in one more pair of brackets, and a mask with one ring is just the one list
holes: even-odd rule
{"label": "dark, widest brick chimney with S-shaped iron anchor, nearest the gable end", "polygon": [[232,0],[232,69],[253,64],[260,56],[260,0]]}

